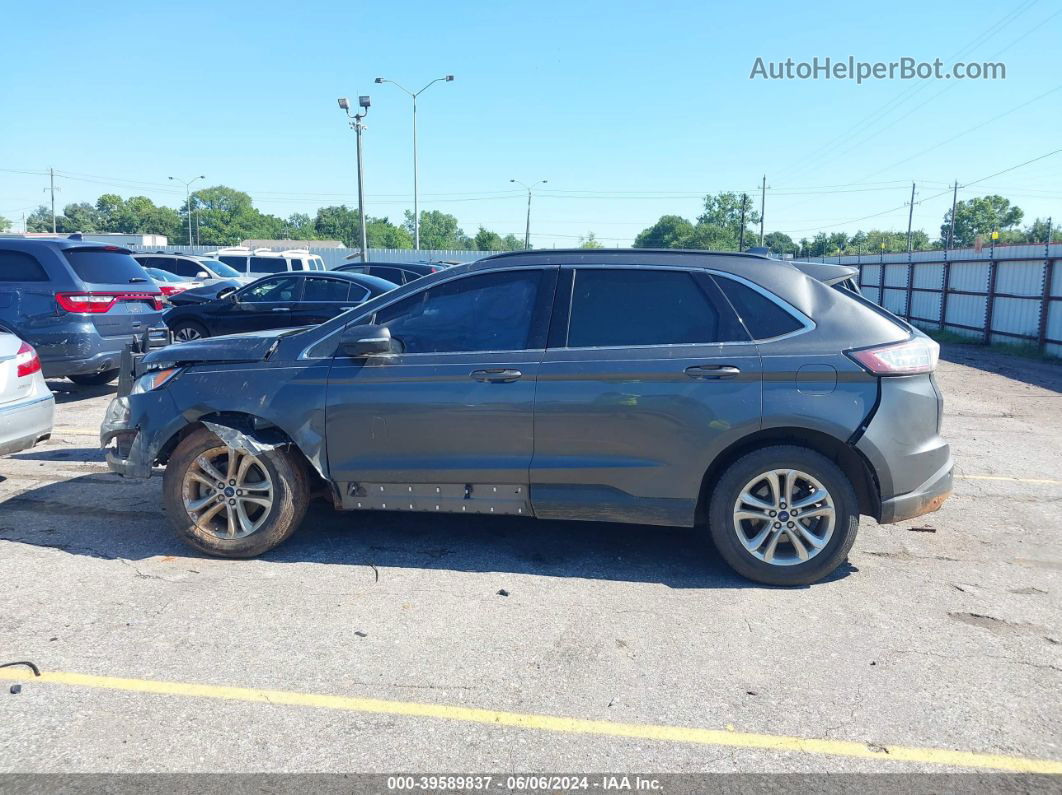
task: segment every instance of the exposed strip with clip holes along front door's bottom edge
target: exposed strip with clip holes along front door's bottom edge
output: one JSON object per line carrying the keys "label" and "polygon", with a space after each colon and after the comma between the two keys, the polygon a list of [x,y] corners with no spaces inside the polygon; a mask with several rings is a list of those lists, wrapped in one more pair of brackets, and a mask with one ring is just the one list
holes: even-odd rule
{"label": "exposed strip with clip holes along front door's bottom edge", "polygon": [[526,486],[511,483],[343,483],[344,511],[531,516]]}

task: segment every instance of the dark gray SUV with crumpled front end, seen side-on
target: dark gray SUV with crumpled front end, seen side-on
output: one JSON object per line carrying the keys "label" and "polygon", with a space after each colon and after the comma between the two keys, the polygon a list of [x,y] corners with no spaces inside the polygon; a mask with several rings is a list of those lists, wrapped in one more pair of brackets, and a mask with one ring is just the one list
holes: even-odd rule
{"label": "dark gray SUV with crumpled front end, seen side-on", "polygon": [[[338,509],[704,528],[747,577],[818,581],[860,515],[952,489],[938,346],[852,269],[550,250],[426,276],[320,326],[149,353],[101,429],[166,466],[177,534],[249,557]],[[227,386],[230,385],[232,388]]]}

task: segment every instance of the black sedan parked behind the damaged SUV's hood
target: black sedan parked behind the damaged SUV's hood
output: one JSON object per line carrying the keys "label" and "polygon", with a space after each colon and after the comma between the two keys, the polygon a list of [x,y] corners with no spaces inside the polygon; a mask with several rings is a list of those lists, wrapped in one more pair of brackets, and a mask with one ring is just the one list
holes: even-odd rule
{"label": "black sedan parked behind the damaged SUV's hood", "polygon": [[395,287],[365,274],[291,272],[267,276],[239,290],[222,289],[217,298],[176,306],[162,319],[177,342],[312,326]]}

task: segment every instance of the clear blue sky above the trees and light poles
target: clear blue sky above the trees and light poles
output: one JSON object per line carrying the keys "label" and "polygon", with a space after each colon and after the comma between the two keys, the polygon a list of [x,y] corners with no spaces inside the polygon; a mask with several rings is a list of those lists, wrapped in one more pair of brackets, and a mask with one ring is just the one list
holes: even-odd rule
{"label": "clear blue sky above the trees and light poles", "polygon": [[[0,49],[0,215],[101,192],[176,206],[167,176],[205,174],[267,212],[356,204],[354,134],[336,98],[370,93],[366,209],[421,207],[532,242],[594,231],[630,244],[701,196],[758,190],[767,228],[935,231],[960,185],[1062,148],[1058,0],[761,2],[55,2],[8,4]],[[1007,80],[766,82],[756,56],[1003,61]],[[922,107],[919,107],[922,105]],[[1023,106],[1024,105],[1024,106]],[[998,117],[998,118],[997,118]],[[953,139],[954,140],[949,140]],[[1062,153],[960,197],[999,192],[1062,222]],[[840,187],[837,187],[840,186]],[[758,200],[758,195],[757,195]],[[881,214],[878,214],[881,213]],[[864,218],[871,217],[874,218]],[[862,220],[860,220],[862,219]]]}

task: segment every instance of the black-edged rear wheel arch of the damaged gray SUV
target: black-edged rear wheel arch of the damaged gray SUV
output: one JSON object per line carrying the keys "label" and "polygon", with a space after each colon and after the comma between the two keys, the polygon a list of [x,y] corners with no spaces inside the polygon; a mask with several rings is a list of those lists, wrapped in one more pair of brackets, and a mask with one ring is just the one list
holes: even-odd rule
{"label": "black-edged rear wheel arch of the damaged gray SUV", "polygon": [[726,468],[742,455],[772,445],[794,445],[815,450],[833,461],[844,472],[855,489],[859,501],[859,513],[878,518],[881,500],[880,489],[874,470],[862,453],[836,436],[809,428],[768,428],[732,443],[712,461],[701,479],[701,490],[697,500],[695,518],[698,524],[706,524],[712,492]]}

